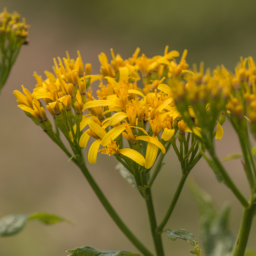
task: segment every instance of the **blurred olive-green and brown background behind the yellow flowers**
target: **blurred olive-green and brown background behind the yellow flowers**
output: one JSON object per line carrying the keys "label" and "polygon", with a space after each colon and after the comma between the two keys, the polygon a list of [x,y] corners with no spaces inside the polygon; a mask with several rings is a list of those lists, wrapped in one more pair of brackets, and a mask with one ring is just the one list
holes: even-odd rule
{"label": "blurred olive-green and brown background behind the yellow flowers", "polygon": [[[59,147],[17,108],[12,92],[21,90],[22,84],[32,92],[36,84],[33,72],[45,79],[43,72],[52,71],[52,58],[65,57],[66,50],[74,59],[80,50],[83,62],[92,63],[94,74],[99,73],[97,55],[102,51],[109,60],[110,48],[126,59],[140,47],[140,54],[152,57],[163,55],[166,45],[180,54],[188,49],[190,67],[203,60],[205,67],[224,64],[233,71],[240,56],[256,59],[256,1],[1,0],[0,11],[4,7],[20,13],[31,27],[30,43],[21,48],[0,96],[0,217],[45,211],[72,220],[75,227],[31,221],[16,236],[0,238],[1,256],[64,256],[66,250],[83,245],[138,252],[105,212],[79,169],[67,163]],[[219,156],[240,152],[228,121],[223,128],[223,139],[215,143]],[[88,153],[88,149],[84,151]],[[114,157],[99,155],[97,160],[97,165],[88,163],[92,175],[131,230],[154,250],[142,197],[115,170]],[[181,177],[173,150],[164,162],[152,188],[158,223]],[[225,166],[248,198],[240,161]],[[191,171],[190,178],[213,197],[218,208],[225,202],[231,204],[229,225],[236,235],[242,208],[230,190],[217,182],[204,159]],[[188,229],[200,243],[197,206],[187,184],[166,228]],[[255,247],[255,238],[254,221],[248,247]],[[192,247],[182,240],[173,242],[163,235],[163,242],[166,255],[191,255]]]}

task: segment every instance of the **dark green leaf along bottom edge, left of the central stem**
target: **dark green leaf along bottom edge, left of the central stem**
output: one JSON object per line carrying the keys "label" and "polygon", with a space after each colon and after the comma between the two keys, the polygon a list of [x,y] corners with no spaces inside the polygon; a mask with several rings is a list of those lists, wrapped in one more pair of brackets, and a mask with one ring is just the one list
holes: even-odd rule
{"label": "dark green leaf along bottom edge, left of the central stem", "polygon": [[127,251],[101,251],[94,249],[88,245],[77,247],[72,250],[67,250],[71,254],[68,256],[140,256],[139,254]]}

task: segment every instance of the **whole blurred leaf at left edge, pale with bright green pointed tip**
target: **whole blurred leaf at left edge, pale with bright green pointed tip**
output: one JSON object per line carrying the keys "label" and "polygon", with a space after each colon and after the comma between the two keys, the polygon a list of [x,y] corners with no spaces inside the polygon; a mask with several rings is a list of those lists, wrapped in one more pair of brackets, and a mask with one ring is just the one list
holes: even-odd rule
{"label": "whole blurred leaf at left edge, pale with bright green pointed tip", "polygon": [[32,219],[39,219],[44,224],[55,224],[60,221],[71,221],[54,214],[38,212],[34,214],[9,214],[0,219],[0,236],[12,236],[20,232],[27,222]]}

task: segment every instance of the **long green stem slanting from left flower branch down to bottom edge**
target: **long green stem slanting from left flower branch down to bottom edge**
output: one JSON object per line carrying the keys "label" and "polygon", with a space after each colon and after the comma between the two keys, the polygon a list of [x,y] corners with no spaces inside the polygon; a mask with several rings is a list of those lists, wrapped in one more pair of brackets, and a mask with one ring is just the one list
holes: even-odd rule
{"label": "long green stem slanting from left flower branch down to bottom edge", "polygon": [[145,245],[143,245],[140,240],[130,231],[130,229],[124,224],[122,219],[116,213],[112,205],[110,204],[109,200],[107,200],[106,196],[99,188],[99,185],[96,183],[90,172],[88,171],[87,167],[85,166],[84,161],[78,165],[80,170],[82,171],[83,175],[87,179],[88,183],[90,184],[91,188],[99,198],[100,202],[110,215],[110,217],[114,220],[116,225],[121,229],[121,231],[126,235],[126,237],[135,245],[135,247],[142,252],[145,256],[153,256],[152,252],[150,252]]}

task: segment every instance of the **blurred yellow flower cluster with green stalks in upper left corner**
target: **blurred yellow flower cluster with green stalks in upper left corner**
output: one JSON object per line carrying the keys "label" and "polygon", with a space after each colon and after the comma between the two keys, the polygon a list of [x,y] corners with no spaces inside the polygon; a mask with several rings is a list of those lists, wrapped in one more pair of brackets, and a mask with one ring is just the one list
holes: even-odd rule
{"label": "blurred yellow flower cluster with green stalks in upper left corner", "polygon": [[25,18],[20,20],[16,12],[8,13],[7,8],[0,13],[0,93],[11,71],[20,47],[28,44],[26,40],[29,25],[26,25]]}

